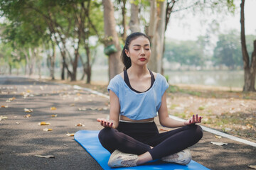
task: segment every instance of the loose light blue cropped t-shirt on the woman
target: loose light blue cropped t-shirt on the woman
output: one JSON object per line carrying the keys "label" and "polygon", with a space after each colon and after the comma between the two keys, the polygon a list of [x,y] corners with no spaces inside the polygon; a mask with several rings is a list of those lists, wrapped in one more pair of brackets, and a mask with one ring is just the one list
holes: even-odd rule
{"label": "loose light blue cropped t-shirt on the woman", "polygon": [[107,89],[113,91],[119,98],[120,115],[132,120],[143,120],[156,117],[161,106],[161,97],[168,87],[165,77],[157,74],[151,89],[138,94],[132,91],[118,74],[110,80]]}

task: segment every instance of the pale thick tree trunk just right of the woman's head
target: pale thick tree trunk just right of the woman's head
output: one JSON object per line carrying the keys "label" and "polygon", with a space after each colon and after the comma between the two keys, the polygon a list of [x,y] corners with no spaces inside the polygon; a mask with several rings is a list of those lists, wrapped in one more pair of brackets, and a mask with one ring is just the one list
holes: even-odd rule
{"label": "pale thick tree trunk just right of the woman's head", "polygon": [[166,1],[151,0],[151,13],[149,23],[149,37],[151,38],[151,59],[149,69],[161,72],[161,60],[164,48],[164,30],[166,22]]}

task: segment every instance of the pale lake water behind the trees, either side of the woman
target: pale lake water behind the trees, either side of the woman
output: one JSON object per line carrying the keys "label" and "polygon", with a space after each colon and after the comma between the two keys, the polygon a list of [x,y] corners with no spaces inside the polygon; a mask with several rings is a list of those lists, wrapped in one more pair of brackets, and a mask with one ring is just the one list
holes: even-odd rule
{"label": "pale lake water behind the trees, either side of the woman", "polygon": [[[44,72],[46,75],[46,72]],[[47,73],[48,74],[48,73]],[[48,74],[49,75],[49,74]],[[206,86],[225,86],[242,88],[244,85],[243,70],[224,71],[172,71],[165,70],[164,75],[169,76],[169,84],[198,84]],[[78,69],[79,80],[82,69]],[[55,70],[55,77],[60,78],[60,70]],[[108,82],[108,69],[106,67],[92,67],[92,81]]]}

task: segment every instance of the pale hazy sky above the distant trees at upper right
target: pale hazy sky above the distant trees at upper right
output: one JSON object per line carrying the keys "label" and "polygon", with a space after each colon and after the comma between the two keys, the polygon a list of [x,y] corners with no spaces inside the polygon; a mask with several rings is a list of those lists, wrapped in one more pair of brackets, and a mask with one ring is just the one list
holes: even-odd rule
{"label": "pale hazy sky above the distant trees at upper right", "polygon": [[[198,35],[206,35],[208,24],[216,19],[220,23],[220,33],[228,33],[228,30],[236,29],[240,32],[240,1],[236,4],[235,15],[221,14],[212,16],[186,15],[181,18],[178,13],[173,13],[166,30],[166,38],[175,40],[196,40]],[[245,35],[256,35],[256,0],[245,1]],[[216,35],[218,36],[218,35]],[[256,38],[255,38],[256,39]]]}

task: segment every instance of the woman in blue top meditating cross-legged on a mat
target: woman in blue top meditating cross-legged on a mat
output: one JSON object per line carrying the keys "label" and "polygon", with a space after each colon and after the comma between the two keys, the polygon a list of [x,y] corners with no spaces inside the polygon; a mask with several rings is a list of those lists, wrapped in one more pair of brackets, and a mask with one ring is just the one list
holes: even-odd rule
{"label": "woman in blue top meditating cross-legged on a mat", "polygon": [[[201,116],[184,122],[169,118],[166,89],[169,84],[161,74],[147,69],[151,56],[149,38],[132,33],[122,50],[124,72],[115,76],[107,87],[110,93],[110,120],[98,118],[104,127],[99,140],[110,153],[111,167],[137,166],[154,159],[188,164],[191,152],[186,149],[203,136]],[[154,117],[167,128],[159,133]]]}

